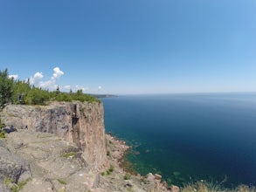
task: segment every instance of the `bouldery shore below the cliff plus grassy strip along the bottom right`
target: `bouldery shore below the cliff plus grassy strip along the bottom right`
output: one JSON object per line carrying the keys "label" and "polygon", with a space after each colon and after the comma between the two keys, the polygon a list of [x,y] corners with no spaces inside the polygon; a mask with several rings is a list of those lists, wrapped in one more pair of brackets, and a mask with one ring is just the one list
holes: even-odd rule
{"label": "bouldery shore below the cliff plus grassy strip along the bottom right", "polygon": [[[203,180],[188,183],[183,188],[176,185],[168,186],[167,182],[162,181],[162,175],[149,173],[146,176],[136,174],[127,166],[123,157],[131,147],[128,147],[125,141],[115,138],[112,134],[106,134],[107,159],[110,166],[114,165],[114,172],[111,175],[101,175],[100,186],[105,190],[99,192],[117,192],[117,191],[134,191],[134,192],[256,192],[254,186],[240,184],[235,189],[225,189],[221,183],[212,184]],[[128,176],[127,176],[128,175]],[[125,181],[125,182],[124,182]],[[106,186],[106,183],[111,183]],[[96,192],[96,191],[95,191]]]}

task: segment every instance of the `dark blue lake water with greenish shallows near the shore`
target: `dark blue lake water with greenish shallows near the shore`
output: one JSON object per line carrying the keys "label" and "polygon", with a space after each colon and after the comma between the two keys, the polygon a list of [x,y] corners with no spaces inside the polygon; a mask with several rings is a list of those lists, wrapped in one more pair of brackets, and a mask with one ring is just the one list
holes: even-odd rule
{"label": "dark blue lake water with greenish shallows near the shore", "polygon": [[256,93],[102,99],[107,132],[128,141],[136,172],[173,184],[256,184]]}

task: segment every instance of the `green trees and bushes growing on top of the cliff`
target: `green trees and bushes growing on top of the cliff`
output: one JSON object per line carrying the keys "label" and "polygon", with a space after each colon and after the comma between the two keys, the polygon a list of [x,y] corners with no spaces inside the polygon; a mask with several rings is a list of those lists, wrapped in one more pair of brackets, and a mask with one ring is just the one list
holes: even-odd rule
{"label": "green trees and bushes growing on top of the cliff", "polygon": [[82,102],[100,102],[92,95],[82,93],[78,90],[76,93],[61,93],[59,87],[56,91],[50,92],[35,86],[31,86],[30,80],[21,81],[9,78],[8,70],[0,70],[0,107],[8,103],[25,105],[45,105],[48,101],[72,101],[80,100]]}

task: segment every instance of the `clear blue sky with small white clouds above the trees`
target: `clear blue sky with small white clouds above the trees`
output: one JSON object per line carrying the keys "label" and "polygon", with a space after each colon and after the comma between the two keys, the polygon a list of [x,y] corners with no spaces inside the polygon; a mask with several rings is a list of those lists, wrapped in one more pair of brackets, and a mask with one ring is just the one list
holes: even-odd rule
{"label": "clear blue sky with small white clouds above the trees", "polygon": [[0,69],[84,93],[256,91],[255,0],[0,0]]}

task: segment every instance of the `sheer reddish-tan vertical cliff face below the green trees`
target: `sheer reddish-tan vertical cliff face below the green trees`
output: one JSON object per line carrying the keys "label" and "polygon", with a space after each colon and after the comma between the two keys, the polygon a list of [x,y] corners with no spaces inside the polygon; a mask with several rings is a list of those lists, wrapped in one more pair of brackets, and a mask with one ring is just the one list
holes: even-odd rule
{"label": "sheer reddish-tan vertical cliff face below the green trees", "polygon": [[62,102],[50,106],[10,105],[0,114],[6,126],[56,134],[76,143],[88,167],[107,164],[104,112],[101,103]]}

